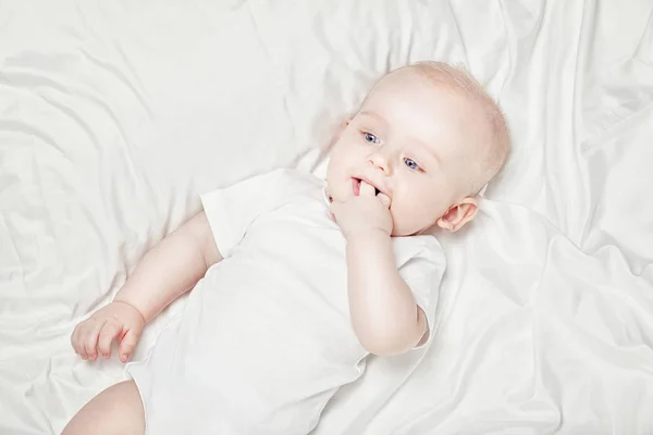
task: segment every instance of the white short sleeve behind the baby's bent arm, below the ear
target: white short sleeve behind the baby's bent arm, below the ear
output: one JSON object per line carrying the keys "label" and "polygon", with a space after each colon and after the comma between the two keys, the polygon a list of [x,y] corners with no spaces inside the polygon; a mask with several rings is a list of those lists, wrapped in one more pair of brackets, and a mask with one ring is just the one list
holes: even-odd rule
{"label": "white short sleeve behind the baby's bent arm, below the ear", "polygon": [[435,309],[440,295],[442,276],[446,269],[444,251],[433,236],[414,236],[417,247],[414,254],[399,266],[399,275],[412,290],[415,301],[427,318],[427,338],[416,349],[431,343],[435,325]]}

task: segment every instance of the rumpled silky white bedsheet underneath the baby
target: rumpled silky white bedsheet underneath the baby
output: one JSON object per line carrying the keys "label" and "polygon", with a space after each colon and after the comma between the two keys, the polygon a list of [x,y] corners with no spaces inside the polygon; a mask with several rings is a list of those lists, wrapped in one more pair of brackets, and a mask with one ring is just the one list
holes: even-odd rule
{"label": "rumpled silky white bedsheet underneath the baby", "polygon": [[379,74],[429,58],[486,84],[513,154],[475,224],[442,236],[433,346],[372,360],[316,433],[653,433],[652,13],[0,0],[0,433],[59,433],[120,380],[115,360],[76,358],[70,333],[199,192],[315,167]]}

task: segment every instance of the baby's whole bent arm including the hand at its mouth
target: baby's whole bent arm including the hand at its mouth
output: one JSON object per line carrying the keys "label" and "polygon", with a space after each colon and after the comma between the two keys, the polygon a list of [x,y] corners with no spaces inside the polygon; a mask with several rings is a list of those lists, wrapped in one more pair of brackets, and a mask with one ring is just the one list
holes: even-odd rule
{"label": "baby's whole bent arm including the hand at its mouth", "polygon": [[360,194],[333,202],[347,239],[347,288],[354,332],[371,353],[397,355],[424,336],[427,320],[397,271],[390,198],[362,182]]}

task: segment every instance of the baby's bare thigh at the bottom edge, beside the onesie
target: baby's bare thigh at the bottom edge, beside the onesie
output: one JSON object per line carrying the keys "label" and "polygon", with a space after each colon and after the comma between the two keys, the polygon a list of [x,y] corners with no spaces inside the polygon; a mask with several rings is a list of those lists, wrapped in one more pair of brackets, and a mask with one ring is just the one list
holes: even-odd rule
{"label": "baby's bare thigh at the bottom edge, beside the onesie", "polygon": [[134,381],[115,384],[86,403],[62,433],[77,434],[145,434],[145,412]]}

